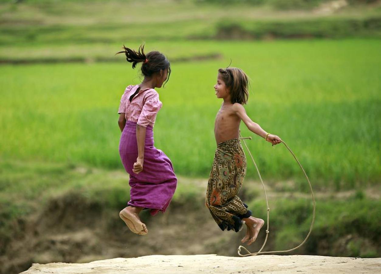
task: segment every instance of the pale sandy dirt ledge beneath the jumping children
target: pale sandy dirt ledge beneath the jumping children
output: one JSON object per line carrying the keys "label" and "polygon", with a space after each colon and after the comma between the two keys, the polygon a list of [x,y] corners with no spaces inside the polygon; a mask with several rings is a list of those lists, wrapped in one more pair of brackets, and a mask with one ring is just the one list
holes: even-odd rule
{"label": "pale sandy dirt ledge beneath the jumping children", "polygon": [[347,258],[311,255],[262,255],[225,257],[216,255],[151,255],[115,258],[84,264],[33,264],[31,273],[377,273],[381,258]]}

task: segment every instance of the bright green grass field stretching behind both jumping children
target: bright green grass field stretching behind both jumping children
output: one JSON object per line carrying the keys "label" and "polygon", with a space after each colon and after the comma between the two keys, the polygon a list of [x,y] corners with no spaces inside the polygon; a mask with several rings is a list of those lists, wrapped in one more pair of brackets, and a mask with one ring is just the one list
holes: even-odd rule
{"label": "bright green grass field stretching behind both jumping children", "polygon": [[[171,79],[159,90],[163,108],[155,145],[170,156],[178,174],[208,176],[221,103],[213,85],[217,69],[232,58],[251,77],[247,113],[288,143],[315,187],[376,184],[381,175],[378,47],[379,40],[147,43],[147,50],[164,53],[203,48],[223,56],[172,64]],[[138,71],[124,63],[0,69],[2,159],[122,168],[116,111],[124,87],[139,83]],[[241,130],[250,135],[244,125]],[[272,148],[259,137],[248,145],[265,179],[302,180],[281,145]],[[248,177],[256,177],[248,163]]]}

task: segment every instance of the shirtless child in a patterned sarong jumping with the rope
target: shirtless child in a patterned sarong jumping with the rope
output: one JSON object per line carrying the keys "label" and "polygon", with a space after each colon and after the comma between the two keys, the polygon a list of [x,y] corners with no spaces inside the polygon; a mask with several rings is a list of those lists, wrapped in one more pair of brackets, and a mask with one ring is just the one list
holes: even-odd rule
{"label": "shirtless child in a patterned sarong jumping with the rope", "polygon": [[247,116],[242,105],[247,103],[249,95],[248,77],[241,69],[219,69],[214,88],[217,98],[224,102],[215,121],[217,150],[208,180],[206,205],[222,230],[227,228],[238,232],[245,223],[247,230],[242,242],[250,245],[256,240],[264,221],[251,216],[247,205],[237,196],[246,175],[246,157],[239,140],[240,122],[242,120],[250,131],[273,145],[281,140]]}

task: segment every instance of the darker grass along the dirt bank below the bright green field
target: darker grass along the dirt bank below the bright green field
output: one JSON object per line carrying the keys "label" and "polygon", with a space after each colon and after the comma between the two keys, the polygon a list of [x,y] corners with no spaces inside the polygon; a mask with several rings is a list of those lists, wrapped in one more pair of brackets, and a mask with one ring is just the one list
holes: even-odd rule
{"label": "darker grass along the dirt bank below the bright green field", "polygon": [[[129,199],[127,178],[123,171],[95,169],[85,165],[1,161],[0,246],[6,248],[14,240],[12,235],[23,233],[24,221],[42,214],[52,205],[73,203],[80,207],[91,205],[91,208],[98,208],[99,211],[118,212]],[[205,187],[204,183],[180,177],[172,206],[185,206],[185,213],[187,210],[206,210],[203,205]],[[245,184],[241,194],[242,197],[245,196],[253,215],[266,219],[263,194],[253,194],[256,189],[256,185]],[[271,239],[266,248],[293,248],[304,239],[309,230],[311,199],[298,196],[284,198],[282,193],[276,194],[269,198]],[[322,193],[319,194],[314,230],[298,254],[379,256],[376,243],[380,240],[381,232],[380,201],[368,198],[362,191],[335,199],[330,195],[321,197]],[[262,242],[256,243],[261,244]],[[256,247],[251,247],[250,250],[256,250]],[[1,252],[3,250],[0,248]]]}

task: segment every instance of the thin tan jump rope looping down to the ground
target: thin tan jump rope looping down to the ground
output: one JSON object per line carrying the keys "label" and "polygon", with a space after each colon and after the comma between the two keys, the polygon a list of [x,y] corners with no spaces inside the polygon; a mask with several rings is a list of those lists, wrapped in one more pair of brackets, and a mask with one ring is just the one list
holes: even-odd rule
{"label": "thin tan jump rope looping down to the ground", "polygon": [[[240,245],[238,247],[238,250],[237,250],[238,255],[241,256],[241,257],[247,257],[247,256],[255,256],[255,255],[259,255],[259,254],[286,253],[286,252],[290,252],[290,251],[293,251],[293,250],[301,247],[307,241],[308,237],[311,235],[312,227],[314,227],[314,223],[315,223],[315,207],[316,207],[315,206],[315,195],[314,195],[314,191],[312,190],[312,185],[311,185],[311,182],[309,181],[309,178],[308,178],[308,176],[306,174],[306,171],[304,171],[303,166],[300,164],[300,162],[296,158],[295,154],[288,147],[288,145],[285,142],[281,141],[286,146],[288,151],[292,154],[292,156],[295,158],[295,161],[299,164],[300,168],[302,169],[302,171],[304,173],[304,176],[306,176],[306,179],[308,181],[308,184],[309,184],[309,187],[310,187],[310,190],[311,190],[311,195],[312,195],[312,203],[313,203],[312,221],[311,221],[311,226],[310,226],[310,229],[309,229],[309,232],[308,232],[306,238],[297,247],[294,247],[294,248],[291,248],[291,249],[288,249],[288,250],[262,251],[264,246],[266,245],[267,238],[269,237],[269,233],[270,233],[270,230],[269,230],[269,219],[270,219],[269,201],[267,199],[266,188],[265,188],[265,185],[263,183],[261,173],[259,172],[258,166],[257,166],[257,164],[254,161],[253,155],[251,155],[251,152],[250,152],[250,150],[247,147],[246,142],[245,142],[245,139],[250,139],[251,140],[251,137],[242,137],[242,135],[240,134],[240,139],[242,140],[243,144],[245,145],[245,147],[246,147],[246,149],[247,149],[247,151],[248,151],[248,153],[249,153],[249,155],[251,157],[251,160],[253,160],[254,166],[255,166],[255,168],[256,168],[256,170],[258,172],[259,179],[261,180],[261,183],[262,183],[262,186],[263,186],[263,191],[264,191],[264,195],[266,197],[266,206],[267,206],[267,228],[266,228],[266,238],[264,239],[263,245],[262,245],[261,249],[259,249],[259,251],[257,251],[257,252],[250,252],[249,250],[247,250],[247,248],[245,248],[242,245]],[[245,250],[247,253],[246,254],[242,254],[241,253],[241,249]]]}

